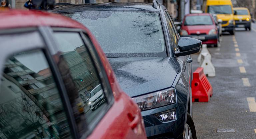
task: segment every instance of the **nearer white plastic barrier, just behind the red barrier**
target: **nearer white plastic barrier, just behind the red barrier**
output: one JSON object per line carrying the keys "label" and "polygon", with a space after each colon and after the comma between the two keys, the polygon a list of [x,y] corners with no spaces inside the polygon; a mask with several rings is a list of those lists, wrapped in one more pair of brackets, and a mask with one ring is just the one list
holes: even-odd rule
{"label": "nearer white plastic barrier, just behind the red barrier", "polygon": [[201,62],[199,67],[204,68],[204,73],[208,77],[215,77],[215,67],[211,62],[211,57],[209,53],[202,53]]}

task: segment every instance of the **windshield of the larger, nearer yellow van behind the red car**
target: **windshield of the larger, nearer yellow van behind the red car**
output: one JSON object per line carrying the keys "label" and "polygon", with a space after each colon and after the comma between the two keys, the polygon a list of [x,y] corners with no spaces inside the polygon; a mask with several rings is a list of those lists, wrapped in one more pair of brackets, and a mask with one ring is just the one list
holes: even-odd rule
{"label": "windshield of the larger, nearer yellow van behind the red car", "polygon": [[208,6],[208,13],[213,14],[233,14],[230,5],[213,5]]}

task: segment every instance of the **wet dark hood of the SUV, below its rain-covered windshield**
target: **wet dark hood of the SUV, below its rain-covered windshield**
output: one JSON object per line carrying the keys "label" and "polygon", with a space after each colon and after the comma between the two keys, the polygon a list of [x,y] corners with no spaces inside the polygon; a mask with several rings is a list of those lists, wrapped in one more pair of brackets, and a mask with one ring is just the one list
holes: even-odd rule
{"label": "wet dark hood of the SUV, below its rain-covered windshield", "polygon": [[171,87],[179,72],[172,57],[108,60],[121,88],[131,97]]}

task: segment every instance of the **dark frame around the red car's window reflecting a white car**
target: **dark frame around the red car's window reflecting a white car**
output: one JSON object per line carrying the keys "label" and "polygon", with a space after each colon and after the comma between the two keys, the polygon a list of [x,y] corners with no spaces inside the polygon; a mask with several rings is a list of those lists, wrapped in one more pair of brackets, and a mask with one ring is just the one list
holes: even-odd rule
{"label": "dark frame around the red car's window reflecting a white car", "polygon": [[[88,52],[88,54],[89,54],[89,56],[92,60],[93,66],[94,66],[95,70],[97,71],[97,76],[100,79],[100,83],[101,83],[101,85],[104,89],[104,94],[105,94],[105,97],[107,99],[107,106],[98,114],[99,116],[96,117],[95,122],[86,123],[87,132],[85,132],[81,135],[81,138],[86,138],[93,132],[93,130],[97,127],[98,123],[103,119],[105,114],[112,107],[112,105],[114,103],[114,100],[115,100],[114,95],[113,95],[113,91],[111,89],[111,86],[110,86],[110,83],[109,83],[109,80],[108,80],[108,77],[107,77],[107,74],[106,74],[106,70],[103,67],[103,64],[100,60],[100,57],[99,57],[93,43],[91,42],[90,37],[88,36],[87,32],[85,30],[82,30],[82,29],[52,27],[51,28],[52,35],[53,35],[54,32],[75,32],[75,33],[78,33],[80,35],[80,37],[81,37],[81,39],[82,39],[82,41],[85,45],[85,48],[87,49],[87,52]],[[55,44],[55,48],[59,49],[57,44]],[[102,77],[100,77],[100,75],[99,75],[100,72],[99,72],[99,70],[98,70],[98,68],[95,64],[95,61],[99,65],[98,68],[101,70]],[[105,85],[103,85],[103,84],[105,84]],[[107,90],[107,91],[105,92],[105,90]],[[75,123],[75,125],[76,125],[76,123]],[[77,133],[77,135],[79,135],[79,133]]]}

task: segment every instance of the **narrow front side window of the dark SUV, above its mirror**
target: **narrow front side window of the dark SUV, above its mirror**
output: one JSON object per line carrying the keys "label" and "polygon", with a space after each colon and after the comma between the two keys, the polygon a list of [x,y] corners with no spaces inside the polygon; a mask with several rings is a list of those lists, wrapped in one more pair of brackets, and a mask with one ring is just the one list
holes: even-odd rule
{"label": "narrow front side window of the dark SUV, above its mirror", "polygon": [[168,31],[170,34],[170,39],[171,39],[171,46],[173,47],[174,51],[178,51],[178,38],[177,35],[175,33],[176,31],[176,27],[173,26],[170,17],[168,16],[168,13],[165,12],[164,13],[166,21],[167,21],[167,26],[168,26]]}

